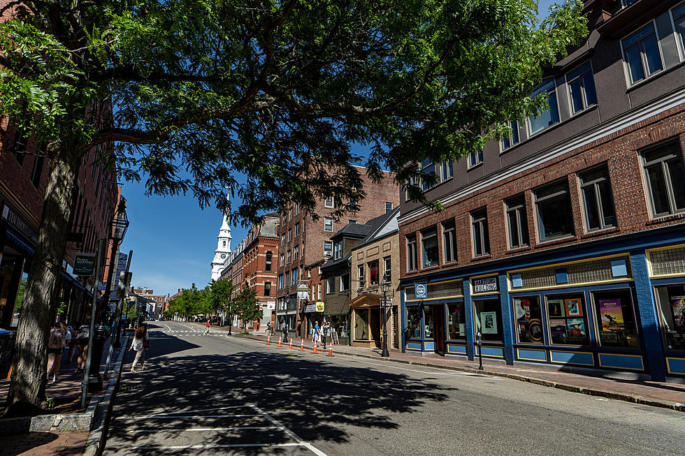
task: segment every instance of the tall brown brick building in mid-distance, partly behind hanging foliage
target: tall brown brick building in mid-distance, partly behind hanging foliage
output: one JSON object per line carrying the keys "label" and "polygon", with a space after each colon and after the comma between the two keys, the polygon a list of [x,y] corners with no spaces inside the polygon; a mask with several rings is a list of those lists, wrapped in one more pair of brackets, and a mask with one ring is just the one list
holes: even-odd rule
{"label": "tall brown brick building in mid-distance, partly behind hanging foliage", "polygon": [[[361,171],[363,174],[363,168]],[[389,172],[384,173],[378,183],[372,182],[366,175],[362,179],[366,198],[360,203],[359,210],[347,214],[345,219],[334,220],[331,216],[336,207],[333,199],[317,203],[315,213],[320,216],[318,221],[306,216],[296,205],[282,211],[276,287],[278,328],[283,321],[287,321],[288,328],[295,329],[298,336],[307,334],[310,322],[303,310],[307,305],[321,300],[323,284],[320,267],[327,258],[333,256],[331,235],[340,226],[351,221],[367,221],[389,212],[399,204],[398,186]],[[296,299],[298,284],[309,286],[308,300]]]}

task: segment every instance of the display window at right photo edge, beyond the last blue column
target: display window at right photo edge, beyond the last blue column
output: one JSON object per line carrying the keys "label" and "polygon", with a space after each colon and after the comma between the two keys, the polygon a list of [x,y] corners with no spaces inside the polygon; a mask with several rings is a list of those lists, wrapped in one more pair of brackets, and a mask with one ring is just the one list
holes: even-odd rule
{"label": "display window at right photo edge, beyond the last blue column", "polygon": [[685,286],[657,286],[656,305],[667,350],[685,351]]}

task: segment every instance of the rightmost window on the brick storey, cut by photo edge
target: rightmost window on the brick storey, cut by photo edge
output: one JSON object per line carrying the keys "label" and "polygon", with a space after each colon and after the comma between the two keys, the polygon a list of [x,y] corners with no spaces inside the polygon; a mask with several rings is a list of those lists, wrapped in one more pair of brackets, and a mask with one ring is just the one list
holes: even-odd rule
{"label": "rightmost window on the brick storey, cut by photo edge", "polygon": [[677,142],[642,154],[652,216],[665,216],[685,209],[685,172]]}

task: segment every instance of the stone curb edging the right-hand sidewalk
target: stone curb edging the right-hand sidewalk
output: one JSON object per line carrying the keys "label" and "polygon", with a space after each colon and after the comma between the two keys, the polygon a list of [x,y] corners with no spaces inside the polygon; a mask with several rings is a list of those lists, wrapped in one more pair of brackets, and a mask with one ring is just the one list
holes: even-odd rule
{"label": "stone curb edging the right-hand sidewalk", "polygon": [[[240,337],[244,337],[245,339],[262,341],[262,339],[259,339],[258,337],[254,337],[254,336],[240,336]],[[640,395],[630,395],[630,394],[622,393],[622,392],[607,391],[607,390],[602,390],[600,388],[589,388],[589,387],[578,386],[578,385],[570,385],[568,383],[561,383],[561,382],[550,381],[550,380],[542,380],[540,378],[524,376],[521,374],[507,374],[506,372],[489,371],[487,369],[484,369],[484,370],[469,369],[466,367],[459,367],[459,366],[434,365],[434,364],[431,364],[429,362],[394,360],[394,359],[387,359],[387,358],[379,358],[377,356],[364,355],[362,353],[345,353],[343,351],[338,351],[338,352],[336,352],[336,354],[345,355],[345,356],[356,356],[358,358],[367,358],[370,360],[376,360],[376,361],[382,361],[382,362],[396,362],[396,363],[405,364],[405,365],[431,367],[433,369],[445,369],[445,370],[456,371],[456,372],[468,372],[470,374],[484,374],[484,375],[505,377],[505,378],[511,378],[512,380],[525,381],[527,383],[533,383],[535,385],[547,386],[549,388],[557,388],[559,390],[566,390],[566,391],[570,391],[570,392],[578,392],[578,393],[583,394],[583,395],[606,397],[607,399],[616,399],[616,400],[623,401],[623,402],[632,402],[633,404],[642,404],[642,405],[648,405],[648,406],[653,406],[653,407],[662,407],[664,409],[672,409],[675,411],[685,412],[685,404],[681,404],[679,402],[669,402],[669,401],[663,401],[660,399],[651,399],[649,397],[644,397],[644,396],[640,396]]]}

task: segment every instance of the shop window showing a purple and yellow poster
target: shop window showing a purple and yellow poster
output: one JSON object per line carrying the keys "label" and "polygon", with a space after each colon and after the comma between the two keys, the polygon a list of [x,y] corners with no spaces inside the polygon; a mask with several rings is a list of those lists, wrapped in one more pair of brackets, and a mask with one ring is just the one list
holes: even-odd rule
{"label": "shop window showing a purple and yellow poster", "polygon": [[598,291],[592,296],[600,346],[639,348],[630,290]]}

